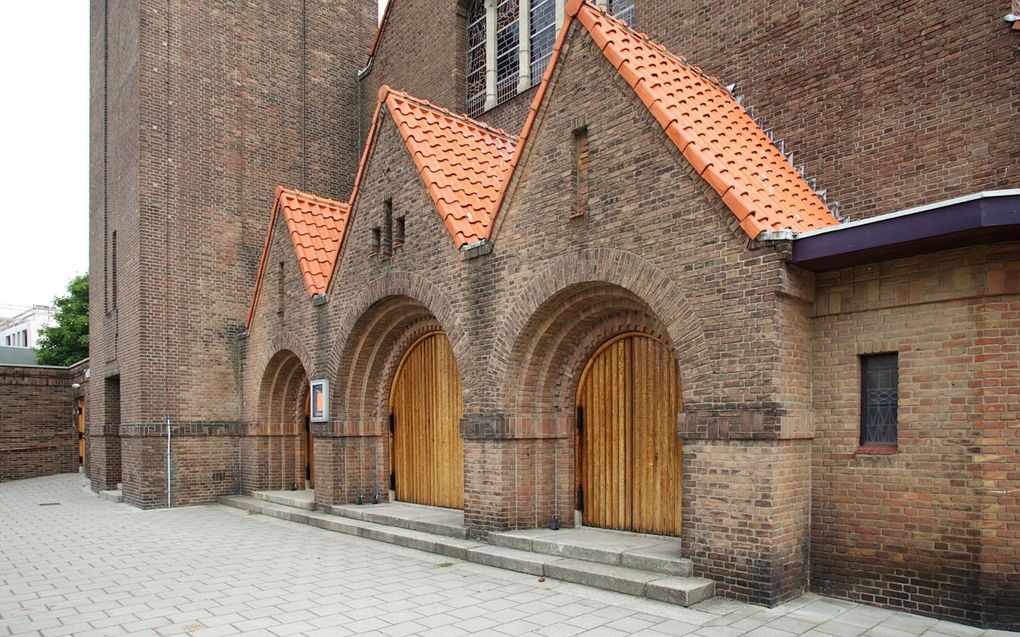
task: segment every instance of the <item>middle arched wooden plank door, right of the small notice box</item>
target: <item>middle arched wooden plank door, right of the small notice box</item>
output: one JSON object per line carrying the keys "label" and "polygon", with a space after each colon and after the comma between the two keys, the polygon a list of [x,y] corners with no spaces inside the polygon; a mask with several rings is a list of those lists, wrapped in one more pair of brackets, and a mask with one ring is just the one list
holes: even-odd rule
{"label": "middle arched wooden plank door, right of the small notice box", "polygon": [[446,334],[412,344],[394,378],[393,471],[397,499],[464,508],[460,374]]}

